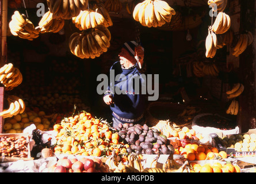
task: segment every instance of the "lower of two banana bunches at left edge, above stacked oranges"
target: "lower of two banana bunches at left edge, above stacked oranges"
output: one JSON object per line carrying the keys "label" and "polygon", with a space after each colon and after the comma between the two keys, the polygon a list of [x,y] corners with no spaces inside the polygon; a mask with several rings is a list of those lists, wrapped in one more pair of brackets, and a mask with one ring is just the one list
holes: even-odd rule
{"label": "lower of two banana bunches at left edge, above stacked oranges", "polygon": [[7,98],[7,101],[9,103],[9,108],[4,109],[0,113],[0,116],[2,116],[3,118],[13,117],[13,116],[16,116],[17,114],[22,114],[24,112],[25,103],[21,98],[15,95],[9,95],[9,97]]}

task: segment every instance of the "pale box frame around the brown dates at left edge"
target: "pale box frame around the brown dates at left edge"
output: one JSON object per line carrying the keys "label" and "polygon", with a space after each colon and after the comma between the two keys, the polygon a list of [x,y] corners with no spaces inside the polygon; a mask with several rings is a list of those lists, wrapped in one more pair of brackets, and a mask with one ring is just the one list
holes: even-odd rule
{"label": "pale box frame around the brown dates at left edge", "polygon": [[27,146],[27,150],[28,150],[28,155],[26,158],[20,158],[20,157],[9,157],[9,156],[0,156],[0,163],[1,162],[15,162],[17,160],[33,160],[33,158],[30,156],[30,137],[32,135],[30,135],[29,133],[0,133],[0,137],[3,136],[7,136],[7,137],[25,137],[27,142],[28,142],[28,146]]}

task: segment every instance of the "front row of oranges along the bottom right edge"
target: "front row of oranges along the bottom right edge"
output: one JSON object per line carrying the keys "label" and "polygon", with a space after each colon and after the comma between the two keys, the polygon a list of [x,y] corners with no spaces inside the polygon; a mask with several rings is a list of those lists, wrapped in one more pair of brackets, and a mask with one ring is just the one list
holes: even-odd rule
{"label": "front row of oranges along the bottom right edge", "polygon": [[189,164],[194,173],[240,173],[240,167],[231,163],[221,164],[220,162],[215,162],[201,165],[196,162],[190,162]]}

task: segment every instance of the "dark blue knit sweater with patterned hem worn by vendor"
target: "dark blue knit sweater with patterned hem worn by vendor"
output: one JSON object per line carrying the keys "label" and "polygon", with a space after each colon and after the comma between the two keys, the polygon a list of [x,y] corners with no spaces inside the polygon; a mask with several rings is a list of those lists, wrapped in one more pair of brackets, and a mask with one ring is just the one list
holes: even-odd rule
{"label": "dark blue knit sweater with patterned hem worn by vendor", "polygon": [[[113,112],[112,115],[118,118],[121,122],[131,122],[131,120],[135,120],[134,122],[136,122],[138,118],[143,116],[145,109],[146,94],[142,94],[142,85],[144,85],[146,80],[144,80],[144,78],[139,79],[140,87],[139,93],[137,93],[134,78],[139,78],[139,76],[141,75],[141,73],[137,69],[137,64],[129,69],[124,69],[121,67],[120,62],[116,62],[110,68],[110,72],[111,70],[114,70],[115,79],[116,75],[119,74],[125,76],[126,78],[126,80],[124,80],[124,78],[121,78],[119,81],[114,81],[115,89],[118,86],[120,90],[123,90],[121,94],[116,94],[116,91],[114,91],[114,93],[110,92],[111,82],[110,86],[108,87],[108,92],[105,93],[105,95],[113,95],[114,104],[110,105],[110,109]],[[122,89],[122,86],[124,85],[127,86],[126,89]]]}

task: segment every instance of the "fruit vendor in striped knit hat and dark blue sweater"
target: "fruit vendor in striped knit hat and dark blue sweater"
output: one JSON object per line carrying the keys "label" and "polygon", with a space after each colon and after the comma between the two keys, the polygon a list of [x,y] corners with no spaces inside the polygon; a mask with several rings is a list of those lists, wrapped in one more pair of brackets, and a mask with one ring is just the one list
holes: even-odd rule
{"label": "fruit vendor in striped knit hat and dark blue sweater", "polygon": [[[112,126],[118,128],[120,122],[144,124],[143,113],[146,98],[145,94],[141,93],[141,89],[145,80],[140,78],[145,68],[144,48],[137,45],[135,41],[128,41],[123,44],[119,58],[120,61],[115,62],[110,68],[110,75],[114,75],[115,79],[120,76],[119,80],[114,82],[110,80],[108,90],[104,95],[104,102],[110,105],[112,110]],[[139,86],[135,83],[138,77]],[[120,90],[120,93],[117,90]]]}

